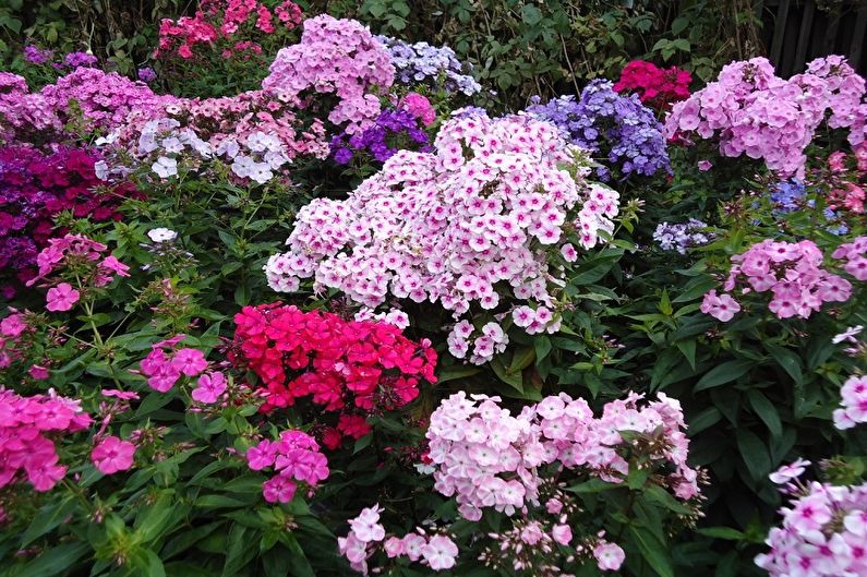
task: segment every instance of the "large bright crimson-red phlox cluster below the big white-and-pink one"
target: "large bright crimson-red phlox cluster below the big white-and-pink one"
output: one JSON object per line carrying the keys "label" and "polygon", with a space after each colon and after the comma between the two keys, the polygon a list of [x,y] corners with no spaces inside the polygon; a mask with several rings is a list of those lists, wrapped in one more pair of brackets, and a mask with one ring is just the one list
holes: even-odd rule
{"label": "large bright crimson-red phlox cluster below the big white-and-pink one", "polygon": [[370,432],[372,411],[395,410],[419,395],[419,381],[434,383],[436,352],[384,322],[346,321],[336,314],[302,312],[292,305],[244,306],[234,317],[233,360],[262,380],[263,411],[310,397],[321,411],[337,412],[323,443],[336,448],[344,436]]}

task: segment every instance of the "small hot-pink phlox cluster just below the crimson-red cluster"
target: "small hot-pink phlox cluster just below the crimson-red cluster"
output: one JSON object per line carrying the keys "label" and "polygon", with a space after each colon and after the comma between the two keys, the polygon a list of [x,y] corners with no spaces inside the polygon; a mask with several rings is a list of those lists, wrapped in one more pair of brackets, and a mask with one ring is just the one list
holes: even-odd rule
{"label": "small hot-pink phlox cluster just below the crimson-red cluster", "polygon": [[263,440],[246,452],[248,466],[254,471],[273,467],[274,477],[262,484],[268,503],[289,503],[298,483],[314,489],[328,477],[328,459],[320,445],[301,431],[284,431],[277,441]]}

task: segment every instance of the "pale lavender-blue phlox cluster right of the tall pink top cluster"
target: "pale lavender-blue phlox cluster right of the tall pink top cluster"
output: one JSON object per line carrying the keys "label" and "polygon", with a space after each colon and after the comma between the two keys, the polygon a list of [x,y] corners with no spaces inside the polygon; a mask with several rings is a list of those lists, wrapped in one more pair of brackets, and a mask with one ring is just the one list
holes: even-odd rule
{"label": "pale lavender-blue phlox cluster right of the tall pink top cluster", "polygon": [[472,77],[472,64],[461,62],[451,48],[428,43],[408,44],[390,36],[376,36],[392,55],[395,82],[407,86],[424,85],[433,91],[472,96],[482,86]]}

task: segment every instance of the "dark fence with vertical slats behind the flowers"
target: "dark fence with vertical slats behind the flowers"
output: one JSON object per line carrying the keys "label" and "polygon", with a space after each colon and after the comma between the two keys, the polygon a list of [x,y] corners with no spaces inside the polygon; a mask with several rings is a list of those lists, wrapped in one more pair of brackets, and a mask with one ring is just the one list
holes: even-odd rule
{"label": "dark fence with vertical slats behind the flowers", "polygon": [[783,77],[797,74],[814,58],[843,55],[867,74],[867,0],[766,0],[762,41]]}

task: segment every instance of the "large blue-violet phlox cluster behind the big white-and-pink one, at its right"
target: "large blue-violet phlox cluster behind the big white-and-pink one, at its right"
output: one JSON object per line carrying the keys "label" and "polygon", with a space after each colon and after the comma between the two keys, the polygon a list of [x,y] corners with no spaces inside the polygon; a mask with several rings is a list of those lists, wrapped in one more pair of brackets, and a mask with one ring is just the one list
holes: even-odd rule
{"label": "large blue-violet phlox cluster behind the big white-and-pink one, at its right", "polygon": [[577,100],[566,95],[527,110],[552,122],[573,144],[606,163],[607,166],[597,168],[604,181],[612,179],[612,168],[624,178],[671,170],[662,124],[653,111],[636,95],[617,94],[610,81],[592,81]]}

